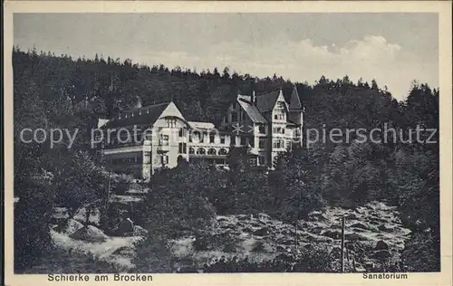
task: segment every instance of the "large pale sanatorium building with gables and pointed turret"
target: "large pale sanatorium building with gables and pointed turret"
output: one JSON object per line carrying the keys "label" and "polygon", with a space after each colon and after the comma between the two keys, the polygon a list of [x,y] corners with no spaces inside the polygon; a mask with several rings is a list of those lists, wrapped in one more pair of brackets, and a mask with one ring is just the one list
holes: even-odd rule
{"label": "large pale sanatorium building with gables and pointed turret", "polygon": [[111,170],[140,178],[161,167],[176,167],[178,157],[226,166],[233,148],[246,150],[251,166],[272,168],[279,152],[302,145],[303,121],[295,87],[288,101],[281,89],[237,95],[218,126],[188,121],[175,103],[161,103],[123,110],[107,121],[101,154]]}

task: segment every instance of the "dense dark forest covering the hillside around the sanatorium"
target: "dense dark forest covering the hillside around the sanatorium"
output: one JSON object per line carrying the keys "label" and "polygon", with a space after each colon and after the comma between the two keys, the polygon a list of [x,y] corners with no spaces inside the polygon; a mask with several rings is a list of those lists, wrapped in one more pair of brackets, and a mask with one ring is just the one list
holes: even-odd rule
{"label": "dense dark forest covering the hillside around the sanatorium", "polygon": [[[309,85],[277,75],[255,78],[228,68],[170,70],[163,64],[139,65],[98,55],[72,59],[18,47],[12,56],[14,196],[20,198],[14,207],[17,268],[52,247],[48,224],[53,206],[67,206],[73,212],[102,196],[108,175],[97,164],[88,130],[96,128],[98,119],[134,107],[139,100],[143,105],[174,100],[187,119],[217,122],[219,110],[238,92],[255,90],[259,96],[282,87],[289,96],[295,84],[305,108],[306,130],[369,132],[385,124],[396,130],[393,136],[405,139],[417,126],[439,130],[439,90],[416,81],[405,100],[398,101],[376,81],[352,82],[348,76],[333,81],[320,75]],[[24,128],[57,127],[79,129],[71,149],[19,139]],[[428,136],[421,133],[422,138]],[[149,228],[171,227],[153,232],[140,247],[148,249],[162,236],[178,235],[170,233],[181,228],[197,234],[215,214],[265,212],[292,221],[324,205],[355,207],[380,200],[398,206],[401,221],[413,232],[402,254],[404,263],[412,270],[439,271],[439,132],[430,139],[438,143],[401,142],[399,137],[380,143],[353,137],[342,143],[318,141],[283,154],[268,175],[245,171],[240,155],[231,157],[227,172],[180,162],[149,183],[153,191],[147,200],[166,204],[152,209],[143,205],[143,215],[151,218]]]}

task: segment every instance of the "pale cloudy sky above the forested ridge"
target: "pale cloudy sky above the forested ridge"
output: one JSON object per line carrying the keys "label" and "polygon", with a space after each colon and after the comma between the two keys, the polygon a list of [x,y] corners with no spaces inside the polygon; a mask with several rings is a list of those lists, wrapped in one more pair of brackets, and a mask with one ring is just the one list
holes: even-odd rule
{"label": "pale cloudy sky above the forested ridge", "polygon": [[14,14],[14,45],[313,84],[376,79],[398,100],[439,87],[438,14]]}

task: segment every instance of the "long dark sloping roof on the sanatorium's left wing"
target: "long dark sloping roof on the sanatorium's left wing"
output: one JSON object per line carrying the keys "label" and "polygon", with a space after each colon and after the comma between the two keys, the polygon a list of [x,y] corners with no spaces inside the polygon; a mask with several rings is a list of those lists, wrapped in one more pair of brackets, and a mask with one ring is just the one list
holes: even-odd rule
{"label": "long dark sloping roof on the sanatorium's left wing", "polygon": [[[124,114],[121,114],[121,118],[112,119],[107,124],[103,126],[104,129],[115,129],[120,127],[134,126],[134,125],[152,125],[157,119],[159,119],[160,114],[169,106],[170,102],[160,103],[156,105],[149,105],[132,111],[134,116],[131,117],[128,112],[128,118],[125,118]],[[141,111],[141,115],[136,115],[137,112]]]}

